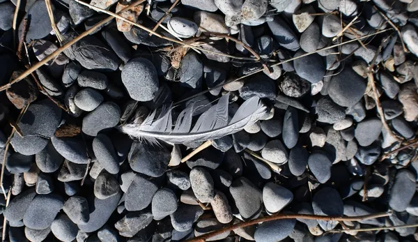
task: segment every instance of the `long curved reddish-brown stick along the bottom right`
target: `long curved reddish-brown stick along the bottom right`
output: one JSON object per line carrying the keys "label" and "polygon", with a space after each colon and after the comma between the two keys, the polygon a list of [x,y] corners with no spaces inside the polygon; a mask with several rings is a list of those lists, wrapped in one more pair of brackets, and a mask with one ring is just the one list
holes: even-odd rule
{"label": "long curved reddish-brown stick along the bottom right", "polygon": [[219,234],[223,234],[225,232],[229,232],[233,229],[238,229],[241,227],[248,227],[251,225],[257,225],[260,222],[268,222],[272,220],[282,220],[282,219],[295,219],[295,218],[302,218],[302,219],[309,219],[309,220],[330,220],[330,221],[359,221],[359,220],[367,220],[372,218],[383,218],[389,216],[391,213],[374,213],[370,215],[363,215],[363,216],[353,216],[353,217],[330,217],[330,216],[323,216],[323,215],[308,215],[308,214],[276,214],[270,215],[264,218],[258,218],[255,220],[249,220],[247,222],[240,222],[235,225],[230,225],[228,227],[224,227],[222,229],[218,229],[214,232],[210,232],[208,234],[203,234],[201,236],[197,236],[193,239],[188,239],[186,242],[200,242],[206,241],[206,239],[210,239],[213,236],[217,236]]}

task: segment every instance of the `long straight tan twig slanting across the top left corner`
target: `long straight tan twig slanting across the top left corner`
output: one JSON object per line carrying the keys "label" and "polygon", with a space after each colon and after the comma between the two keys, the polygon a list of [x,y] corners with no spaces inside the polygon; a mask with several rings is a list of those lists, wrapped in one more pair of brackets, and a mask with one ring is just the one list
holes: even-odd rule
{"label": "long straight tan twig slanting across the top left corner", "polygon": [[[131,8],[134,8],[135,6],[143,3],[144,1],[145,0],[139,0],[139,1],[135,2],[135,3],[132,3],[132,4],[130,4],[130,6],[127,6],[126,8],[124,8],[123,10],[121,10],[119,13],[121,13],[122,11],[125,11],[125,10],[129,10]],[[102,25],[106,24],[107,22],[109,22],[110,20],[113,20],[113,19],[114,19],[114,16],[110,16],[110,17],[107,17],[106,19],[98,22],[93,27],[91,27],[91,29],[88,29],[87,31],[84,31],[83,33],[81,33],[76,38],[73,38],[72,40],[70,40],[70,42],[66,43],[65,45],[59,47],[56,51],[52,52],[52,54],[49,54],[49,56],[45,57],[45,59],[43,59],[42,61],[39,61],[38,63],[36,63],[35,65],[33,65],[28,70],[25,70],[22,74],[20,74],[18,77],[16,77],[15,80],[12,80],[11,82],[9,82],[6,85],[0,86],[0,91],[4,91],[6,89],[9,89],[10,86],[12,86],[13,84],[15,84],[16,82],[20,82],[21,80],[24,79],[24,77],[27,77],[28,75],[30,75],[31,73],[33,73],[35,70],[38,70],[38,68],[40,68],[41,66],[45,65],[46,63],[48,63],[49,61],[51,61],[52,59],[54,59],[56,56],[58,56],[59,54],[61,54],[61,52],[63,52],[64,50],[67,50],[68,47],[70,47],[71,45],[74,45],[79,40],[81,40],[82,38],[90,35],[90,33],[93,33],[96,29],[102,27]]]}

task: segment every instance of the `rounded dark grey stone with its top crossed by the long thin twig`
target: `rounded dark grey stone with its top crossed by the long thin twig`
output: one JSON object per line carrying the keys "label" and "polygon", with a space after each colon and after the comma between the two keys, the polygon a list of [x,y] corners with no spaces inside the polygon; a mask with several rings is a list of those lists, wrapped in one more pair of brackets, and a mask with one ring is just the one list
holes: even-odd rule
{"label": "rounded dark grey stone with its top crossed by the long thin twig", "polygon": [[[303,50],[296,52],[294,58],[306,54]],[[320,82],[325,75],[325,65],[322,58],[318,54],[310,54],[309,56],[300,57],[293,61],[297,75],[303,79],[315,84]]]}

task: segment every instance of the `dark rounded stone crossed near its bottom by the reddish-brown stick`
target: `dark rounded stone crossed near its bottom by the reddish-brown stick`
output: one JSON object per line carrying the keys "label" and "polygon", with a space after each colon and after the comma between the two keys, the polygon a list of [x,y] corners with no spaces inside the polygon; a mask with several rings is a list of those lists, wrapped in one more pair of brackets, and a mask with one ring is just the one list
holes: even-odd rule
{"label": "dark rounded stone crossed near its bottom by the reddish-brown stick", "polygon": [[[321,188],[312,199],[312,208],[315,215],[341,216],[343,215],[344,204],[339,192],[334,188]],[[334,229],[338,225],[336,221],[318,220],[318,223],[325,231]]]}

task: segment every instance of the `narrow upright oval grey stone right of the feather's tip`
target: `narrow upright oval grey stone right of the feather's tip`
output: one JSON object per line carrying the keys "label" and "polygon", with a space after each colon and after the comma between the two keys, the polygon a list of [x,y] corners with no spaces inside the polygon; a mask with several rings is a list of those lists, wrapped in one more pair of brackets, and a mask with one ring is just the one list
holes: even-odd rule
{"label": "narrow upright oval grey stone right of the feather's tip", "polygon": [[299,137],[299,125],[297,121],[297,109],[288,107],[283,119],[283,142],[288,149],[292,149]]}

